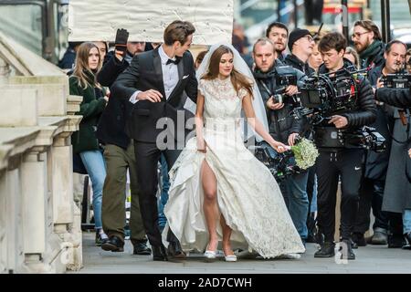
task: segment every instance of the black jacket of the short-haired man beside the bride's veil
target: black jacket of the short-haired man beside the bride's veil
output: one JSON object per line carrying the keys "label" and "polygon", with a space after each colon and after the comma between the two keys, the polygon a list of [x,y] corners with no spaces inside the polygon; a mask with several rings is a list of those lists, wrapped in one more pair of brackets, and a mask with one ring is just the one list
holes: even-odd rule
{"label": "black jacket of the short-haired man beside the bride's veil", "polygon": [[[274,92],[277,88],[276,67],[279,66],[284,66],[284,64],[279,60],[276,60],[274,67],[269,69],[269,72],[263,73],[258,69],[255,69],[253,72],[254,78],[256,78],[256,82],[258,84],[259,92],[261,93],[261,97],[264,101],[264,105],[267,104],[270,94],[261,82],[264,82],[271,93]],[[266,107],[267,118],[269,120],[269,133],[275,140],[287,143],[291,133],[300,132],[299,120],[296,120],[294,117],[290,116],[290,111],[292,109],[292,105],[287,103],[280,110],[270,110]]]}

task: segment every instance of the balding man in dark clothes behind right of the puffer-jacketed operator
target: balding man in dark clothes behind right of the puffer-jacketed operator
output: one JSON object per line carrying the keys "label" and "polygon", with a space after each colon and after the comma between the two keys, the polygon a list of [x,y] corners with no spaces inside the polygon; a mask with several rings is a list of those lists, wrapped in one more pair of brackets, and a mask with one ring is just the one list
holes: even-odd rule
{"label": "balding man in dark clothes behind right of the puffer-jacketed operator", "polygon": [[[381,87],[381,76],[394,74],[404,68],[406,56],[406,45],[398,40],[393,40],[385,47],[385,64],[375,67],[368,74],[368,79],[373,87]],[[391,149],[391,134],[389,129],[393,129],[393,108],[377,102],[377,116],[371,125],[385,137],[386,150],[384,152],[375,152],[368,150],[365,155],[364,180],[362,182],[362,191],[360,194],[360,203],[358,208],[357,219],[353,230],[353,242],[359,246],[365,246],[367,243],[364,239],[364,233],[370,226],[370,209],[373,207],[375,222],[373,225],[374,235],[367,240],[372,245],[386,245],[392,247],[392,235],[388,237],[388,229],[391,234],[400,223],[401,218],[393,214],[387,214],[382,211],[383,196],[385,190],[385,177],[388,168],[388,161]],[[395,218],[397,217],[397,218]],[[390,223],[390,228],[388,223]],[[401,237],[401,233],[400,233]]]}

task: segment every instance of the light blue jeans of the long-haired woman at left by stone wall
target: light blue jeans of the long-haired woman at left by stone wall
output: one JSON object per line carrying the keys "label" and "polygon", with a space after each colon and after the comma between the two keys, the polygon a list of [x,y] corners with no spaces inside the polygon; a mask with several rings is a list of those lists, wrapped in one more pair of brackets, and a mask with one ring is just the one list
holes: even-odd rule
{"label": "light blue jeans of the long-haired woman at left by stone wall", "polygon": [[106,164],[101,151],[83,151],[79,155],[92,183],[94,224],[96,229],[100,229],[102,228],[101,203],[102,189],[106,178]]}

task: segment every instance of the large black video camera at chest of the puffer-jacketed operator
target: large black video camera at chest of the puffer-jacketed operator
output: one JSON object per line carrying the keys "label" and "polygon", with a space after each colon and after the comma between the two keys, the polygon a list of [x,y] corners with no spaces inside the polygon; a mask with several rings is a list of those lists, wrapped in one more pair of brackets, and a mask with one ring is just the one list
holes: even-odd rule
{"label": "large black video camera at chest of the puffer-jacketed operator", "polygon": [[342,68],[333,76],[328,73],[306,78],[300,87],[300,108],[293,114],[297,118],[311,115],[315,125],[334,113],[354,110],[358,92],[356,78],[364,70]]}

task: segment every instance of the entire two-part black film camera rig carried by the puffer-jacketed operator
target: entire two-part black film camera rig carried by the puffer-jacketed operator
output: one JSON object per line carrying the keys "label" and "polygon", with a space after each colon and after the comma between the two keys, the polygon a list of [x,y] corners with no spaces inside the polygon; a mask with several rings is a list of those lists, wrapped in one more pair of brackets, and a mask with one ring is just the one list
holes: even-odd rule
{"label": "entire two-part black film camera rig carried by the puffer-jacketed operator", "polygon": [[314,126],[314,140],[318,147],[385,151],[385,138],[374,128],[364,126],[355,130],[338,130],[320,125],[334,114],[357,110],[357,80],[365,71],[342,68],[332,77],[321,74],[304,80],[300,87],[300,107],[293,110],[293,115],[297,119],[308,117]]}

